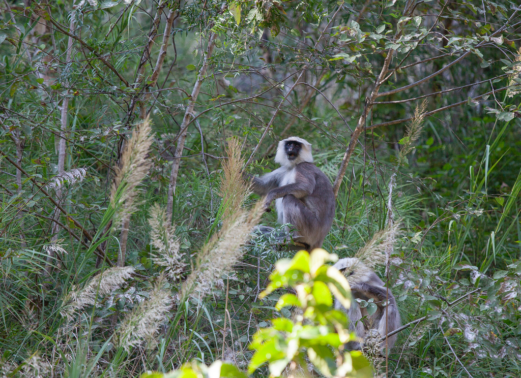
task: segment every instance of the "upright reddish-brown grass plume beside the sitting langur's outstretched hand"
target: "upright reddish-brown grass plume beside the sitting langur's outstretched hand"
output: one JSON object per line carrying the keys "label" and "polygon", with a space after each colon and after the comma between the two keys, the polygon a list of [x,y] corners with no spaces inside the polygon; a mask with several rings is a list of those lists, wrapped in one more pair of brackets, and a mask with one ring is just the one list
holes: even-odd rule
{"label": "upright reddish-brown grass plume beside the sitting langur's outstretched hand", "polygon": [[233,217],[239,214],[239,210],[249,194],[248,187],[242,178],[243,162],[239,139],[228,139],[226,153],[228,159],[222,164],[224,177],[219,188],[224,210],[222,228],[226,228],[234,222]]}

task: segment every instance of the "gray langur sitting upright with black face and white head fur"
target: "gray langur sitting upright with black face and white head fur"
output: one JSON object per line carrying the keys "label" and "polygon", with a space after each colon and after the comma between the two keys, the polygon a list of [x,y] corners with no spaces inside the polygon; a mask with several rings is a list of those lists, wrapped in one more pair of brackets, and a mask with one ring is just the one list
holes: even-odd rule
{"label": "gray langur sitting upright with black face and white head fur", "polygon": [[324,243],[335,211],[333,187],[313,164],[311,144],[299,137],[279,142],[275,162],[281,165],[262,177],[253,177],[253,191],[266,195],[266,211],[275,200],[278,222],[295,226],[293,240],[309,251]]}

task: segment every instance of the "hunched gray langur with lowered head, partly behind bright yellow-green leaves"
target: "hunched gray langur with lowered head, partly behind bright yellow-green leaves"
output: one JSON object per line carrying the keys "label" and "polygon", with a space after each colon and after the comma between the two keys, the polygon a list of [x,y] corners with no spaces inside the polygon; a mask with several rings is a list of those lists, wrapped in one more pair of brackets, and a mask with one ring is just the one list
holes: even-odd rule
{"label": "hunched gray langur with lowered head, partly behind bright yellow-green leaves", "polygon": [[[353,301],[349,310],[346,310],[337,299],[334,302],[336,309],[347,312],[350,320],[349,329],[355,331],[356,335],[363,340],[371,330],[377,330],[378,338],[381,338],[400,327],[400,312],[396,306],[394,296],[373,270],[369,269],[367,265],[356,257],[341,258],[333,266],[343,273],[351,286]],[[367,307],[360,307],[354,301],[355,298],[363,299],[364,301],[373,298],[373,303],[377,306],[375,313],[368,315]],[[397,337],[397,335],[392,335],[387,338],[388,348],[394,345]],[[350,342],[348,347],[360,349],[361,345],[358,342]],[[385,348],[386,342],[383,341],[380,344],[380,353],[382,355],[385,355]]]}

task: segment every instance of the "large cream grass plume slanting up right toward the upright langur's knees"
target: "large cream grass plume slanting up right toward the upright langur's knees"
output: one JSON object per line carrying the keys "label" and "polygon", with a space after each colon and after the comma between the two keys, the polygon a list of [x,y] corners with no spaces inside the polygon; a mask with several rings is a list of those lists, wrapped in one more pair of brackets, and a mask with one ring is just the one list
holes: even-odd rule
{"label": "large cream grass plume slanting up right toward the upright langur's knees", "polygon": [[181,298],[193,292],[204,296],[212,283],[239,261],[243,255],[241,247],[250,240],[251,231],[261,219],[263,209],[263,201],[259,201],[249,212],[239,210],[233,216],[233,223],[223,227],[203,246],[195,269],[183,283]]}

